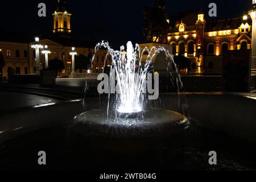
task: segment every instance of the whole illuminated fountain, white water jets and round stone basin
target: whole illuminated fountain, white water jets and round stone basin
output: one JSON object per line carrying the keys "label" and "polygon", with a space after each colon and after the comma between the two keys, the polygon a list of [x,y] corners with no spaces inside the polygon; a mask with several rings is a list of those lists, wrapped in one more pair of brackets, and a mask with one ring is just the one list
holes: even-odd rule
{"label": "whole illuminated fountain, white water jets and round stone basin", "polygon": [[[153,47],[150,50],[144,48],[141,51],[138,44],[134,48],[133,44],[128,42],[126,50],[122,46],[120,51],[114,51],[107,42],[101,42],[97,44],[95,53],[100,48],[106,48],[108,50],[106,57],[112,57],[110,78],[104,73],[98,77],[104,78],[106,82],[104,89],[101,88],[103,85],[98,86],[98,92],[102,93],[99,89],[105,91],[108,104],[101,109],[92,109],[77,115],[72,124],[71,133],[83,136],[87,143],[88,138],[93,138],[92,143],[94,145],[98,143],[101,149],[127,152],[150,150],[162,143],[159,140],[163,141],[165,138],[183,133],[188,128],[189,121],[184,115],[148,104],[149,100],[158,99],[159,93],[159,75],[155,75],[156,93],[154,96],[146,94],[153,85],[151,73],[154,71],[151,68],[154,57],[164,52],[168,63],[167,70],[171,73],[174,67],[177,72],[176,64],[168,50],[164,47]],[[145,52],[148,52],[148,56],[146,61],[142,61],[142,55]],[[179,75],[178,72],[177,74]],[[181,88],[180,76],[176,79],[178,88]],[[116,85],[115,80],[117,80]],[[179,89],[178,92],[180,93]],[[86,102],[84,104],[86,105]]]}

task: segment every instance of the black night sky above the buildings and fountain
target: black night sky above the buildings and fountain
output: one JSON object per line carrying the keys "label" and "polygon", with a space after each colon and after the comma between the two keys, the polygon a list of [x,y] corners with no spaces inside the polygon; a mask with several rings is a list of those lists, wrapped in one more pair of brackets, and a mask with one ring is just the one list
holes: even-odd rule
{"label": "black night sky above the buildings and fountain", "polygon": [[[154,6],[156,0],[69,0],[69,13],[72,13],[72,31],[75,37],[100,41],[108,40],[119,46],[128,40],[143,42],[142,34],[144,6]],[[38,4],[47,5],[47,17],[38,17]],[[179,11],[195,10],[203,7],[208,14],[208,5],[217,4],[217,18],[240,16],[250,9],[251,0],[165,0],[168,15]],[[1,1],[0,28],[13,31],[50,32],[53,27],[52,13],[55,0]]]}

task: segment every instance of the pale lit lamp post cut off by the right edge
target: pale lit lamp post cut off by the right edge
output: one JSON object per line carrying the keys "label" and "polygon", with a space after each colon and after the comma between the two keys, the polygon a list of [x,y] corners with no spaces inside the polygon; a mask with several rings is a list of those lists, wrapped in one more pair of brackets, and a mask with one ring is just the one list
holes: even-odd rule
{"label": "pale lit lamp post cut off by the right edge", "polygon": [[251,74],[256,74],[256,0],[253,0],[253,9],[249,11],[252,20],[251,30]]}

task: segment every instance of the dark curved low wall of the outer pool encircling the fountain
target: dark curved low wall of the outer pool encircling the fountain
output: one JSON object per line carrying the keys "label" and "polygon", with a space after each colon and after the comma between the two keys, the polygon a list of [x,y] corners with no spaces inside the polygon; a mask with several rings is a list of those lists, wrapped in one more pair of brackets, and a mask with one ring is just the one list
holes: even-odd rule
{"label": "dark curved low wall of the outer pool encircling the fountain", "polygon": [[[189,113],[197,123],[238,138],[256,142],[256,97],[238,94],[187,94]],[[159,107],[178,111],[177,95],[160,96]],[[87,110],[99,99],[86,100]],[[82,101],[20,111],[0,117],[0,140],[51,126],[62,125],[82,113]]]}

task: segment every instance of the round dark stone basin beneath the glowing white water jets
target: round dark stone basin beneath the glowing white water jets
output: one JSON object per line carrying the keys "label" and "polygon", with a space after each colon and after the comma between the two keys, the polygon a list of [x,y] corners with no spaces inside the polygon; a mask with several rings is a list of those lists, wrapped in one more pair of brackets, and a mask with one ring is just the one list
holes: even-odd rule
{"label": "round dark stone basin beneath the glowing white water jets", "polygon": [[105,109],[96,109],[75,117],[68,139],[92,151],[137,153],[164,147],[188,126],[184,115],[171,110],[153,108],[133,117],[107,119]]}

